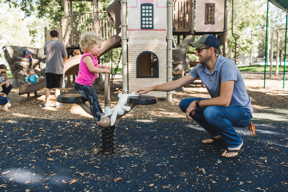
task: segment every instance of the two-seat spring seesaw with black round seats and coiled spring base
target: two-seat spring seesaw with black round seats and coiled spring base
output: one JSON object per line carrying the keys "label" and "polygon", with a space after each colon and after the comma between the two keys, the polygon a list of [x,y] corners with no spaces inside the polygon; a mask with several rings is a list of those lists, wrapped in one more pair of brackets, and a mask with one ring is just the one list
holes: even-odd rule
{"label": "two-seat spring seesaw with black round seats and coiled spring base", "polygon": [[[110,74],[105,73],[105,87],[104,87],[104,99],[105,99],[105,113],[111,108],[111,100],[110,100]],[[81,94],[63,94],[57,96],[56,99],[59,103],[66,103],[66,104],[78,104],[82,109],[90,114],[91,110],[90,107],[85,103],[87,100]],[[128,97],[127,104],[125,106],[131,107],[131,110],[136,105],[151,105],[156,104],[157,98],[150,95],[139,95],[138,97]],[[131,111],[129,110],[129,111]],[[100,120],[99,127],[100,130],[100,151],[102,155],[112,155],[115,153],[115,145],[116,145],[116,133],[115,133],[115,126],[119,123],[122,116],[125,116],[129,111],[125,110],[123,115],[117,115],[116,121],[114,125],[111,125],[111,119],[109,116],[102,117]],[[101,113],[101,116],[105,114]]]}

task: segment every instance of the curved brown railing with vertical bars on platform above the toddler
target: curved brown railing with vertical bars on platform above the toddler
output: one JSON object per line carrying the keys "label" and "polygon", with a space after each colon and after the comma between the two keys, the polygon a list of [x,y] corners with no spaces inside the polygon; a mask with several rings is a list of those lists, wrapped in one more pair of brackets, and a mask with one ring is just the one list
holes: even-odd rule
{"label": "curved brown railing with vertical bars on platform above the toddler", "polygon": [[79,36],[87,31],[100,33],[104,41],[116,35],[113,21],[107,11],[86,12],[68,15],[61,19],[63,44],[73,46],[79,44]]}

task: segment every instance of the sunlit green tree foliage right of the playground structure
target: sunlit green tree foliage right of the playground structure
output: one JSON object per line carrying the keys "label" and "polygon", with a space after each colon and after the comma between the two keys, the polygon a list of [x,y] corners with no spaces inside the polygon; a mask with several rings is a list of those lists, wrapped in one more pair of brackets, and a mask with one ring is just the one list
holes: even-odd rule
{"label": "sunlit green tree foliage right of the playground structure", "polygon": [[[270,3],[271,9],[271,32],[275,27],[285,27],[286,13]],[[265,38],[266,38],[266,13],[267,0],[234,0],[234,21],[233,33],[240,36],[237,43],[240,47],[237,49],[241,55],[249,55],[250,63],[253,53],[258,53],[259,57],[265,56]],[[228,5],[228,56],[232,58],[233,44],[232,30],[232,1]],[[270,32],[270,33],[271,33]],[[283,31],[281,33],[281,45],[284,46]],[[271,38],[271,35],[270,35]],[[274,37],[274,52],[276,54],[277,39]],[[284,48],[283,48],[284,49]],[[283,50],[282,48],[280,49]]]}

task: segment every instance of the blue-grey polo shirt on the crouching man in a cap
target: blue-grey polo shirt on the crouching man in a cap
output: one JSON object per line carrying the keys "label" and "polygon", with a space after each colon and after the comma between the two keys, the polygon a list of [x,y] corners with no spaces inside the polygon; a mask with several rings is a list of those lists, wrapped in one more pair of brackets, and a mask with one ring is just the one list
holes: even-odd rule
{"label": "blue-grey polo shirt on the crouching man in a cap", "polygon": [[233,80],[234,89],[229,105],[242,107],[252,116],[253,108],[243,77],[231,59],[219,55],[212,73],[210,73],[207,65],[199,64],[189,72],[189,75],[202,80],[211,98],[220,96],[221,82]]}

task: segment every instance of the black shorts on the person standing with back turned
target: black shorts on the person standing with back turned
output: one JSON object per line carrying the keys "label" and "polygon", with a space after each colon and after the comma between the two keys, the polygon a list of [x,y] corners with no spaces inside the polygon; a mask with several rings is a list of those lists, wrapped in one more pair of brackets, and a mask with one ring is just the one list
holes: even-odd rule
{"label": "black shorts on the person standing with back turned", "polygon": [[64,88],[64,76],[65,74],[45,73],[46,76],[46,88]]}

